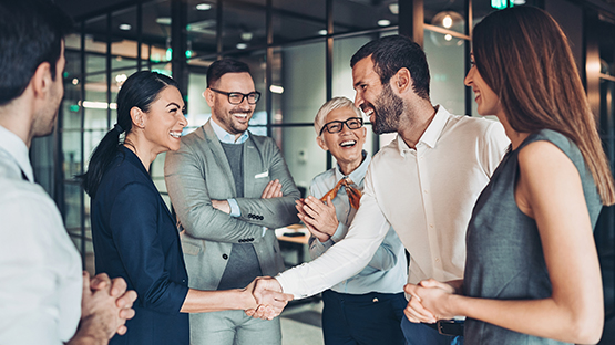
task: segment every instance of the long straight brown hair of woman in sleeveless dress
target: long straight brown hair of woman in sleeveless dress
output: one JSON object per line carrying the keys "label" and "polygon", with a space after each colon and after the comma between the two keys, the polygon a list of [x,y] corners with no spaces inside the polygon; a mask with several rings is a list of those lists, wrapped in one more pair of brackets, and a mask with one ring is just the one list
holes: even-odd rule
{"label": "long straight brown hair of woman in sleeveless dress", "polygon": [[574,142],[604,205],[615,202],[613,176],[567,39],[541,9],[496,11],[472,38],[480,75],[499,95],[506,119],[520,133],[553,129]]}

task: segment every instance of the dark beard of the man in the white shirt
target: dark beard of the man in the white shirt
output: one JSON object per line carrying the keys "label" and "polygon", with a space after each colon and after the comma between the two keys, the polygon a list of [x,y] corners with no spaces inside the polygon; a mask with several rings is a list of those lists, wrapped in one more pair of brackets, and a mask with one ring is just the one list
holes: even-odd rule
{"label": "dark beard of the man in the white shirt", "polygon": [[376,116],[371,128],[376,134],[394,133],[399,130],[399,121],[403,114],[403,100],[393,93],[386,84],[373,106]]}

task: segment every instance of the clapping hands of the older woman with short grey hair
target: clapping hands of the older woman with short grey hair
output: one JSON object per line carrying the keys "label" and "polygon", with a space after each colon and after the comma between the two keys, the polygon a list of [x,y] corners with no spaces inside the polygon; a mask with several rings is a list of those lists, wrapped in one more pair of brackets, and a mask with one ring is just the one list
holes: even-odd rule
{"label": "clapping hands of the older woman with short grey hair", "polygon": [[330,196],[327,197],[326,203],[312,196],[297,200],[295,203],[299,211],[297,216],[320,242],[329,240],[336,233],[339,221]]}

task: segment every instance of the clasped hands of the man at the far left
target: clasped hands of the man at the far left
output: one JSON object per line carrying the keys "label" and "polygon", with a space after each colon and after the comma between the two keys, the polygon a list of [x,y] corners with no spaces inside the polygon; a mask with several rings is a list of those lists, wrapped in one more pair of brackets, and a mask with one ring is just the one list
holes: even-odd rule
{"label": "clasped hands of the man at the far left", "polygon": [[126,333],[124,324],[134,316],[132,303],[136,300],[136,293],[126,292],[123,279],[112,282],[102,273],[91,282],[90,274],[83,272],[82,293],[79,331],[69,344],[82,344],[84,339],[106,344],[115,333]]}

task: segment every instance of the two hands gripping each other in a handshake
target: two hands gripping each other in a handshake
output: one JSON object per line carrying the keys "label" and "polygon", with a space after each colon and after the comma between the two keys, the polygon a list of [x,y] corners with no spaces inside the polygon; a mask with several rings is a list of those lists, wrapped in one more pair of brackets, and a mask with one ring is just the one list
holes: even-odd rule
{"label": "two hands gripping each other in a handshake", "polygon": [[288,301],[293,301],[294,296],[281,292],[281,285],[278,281],[270,276],[256,278],[247,285],[243,293],[250,294],[250,303],[245,313],[248,316],[263,320],[273,320],[278,316]]}

